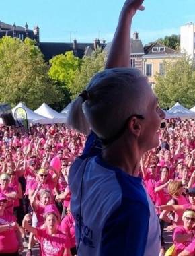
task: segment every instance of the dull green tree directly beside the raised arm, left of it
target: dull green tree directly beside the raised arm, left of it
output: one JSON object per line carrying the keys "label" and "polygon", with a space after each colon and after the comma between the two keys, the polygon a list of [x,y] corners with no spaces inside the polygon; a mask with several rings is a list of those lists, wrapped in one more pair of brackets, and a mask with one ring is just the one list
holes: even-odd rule
{"label": "dull green tree directly beside the raised arm, left of it", "polygon": [[91,56],[83,58],[81,70],[77,71],[73,88],[71,88],[71,98],[75,98],[85,89],[88,82],[95,73],[104,69],[105,53],[101,49],[93,51]]}

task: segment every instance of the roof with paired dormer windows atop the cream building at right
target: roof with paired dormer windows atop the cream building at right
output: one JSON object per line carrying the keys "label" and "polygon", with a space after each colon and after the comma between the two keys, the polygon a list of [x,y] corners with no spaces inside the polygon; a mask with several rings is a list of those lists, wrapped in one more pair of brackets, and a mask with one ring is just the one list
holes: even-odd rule
{"label": "roof with paired dormer windows atop the cream building at right", "polygon": [[[153,48],[157,48],[157,51],[153,51]],[[159,48],[165,48],[165,51],[159,51]],[[160,44],[159,42],[151,42],[150,44],[146,44],[144,46],[145,55],[167,55],[167,54],[176,54],[178,53],[176,50],[171,49],[164,44]]]}

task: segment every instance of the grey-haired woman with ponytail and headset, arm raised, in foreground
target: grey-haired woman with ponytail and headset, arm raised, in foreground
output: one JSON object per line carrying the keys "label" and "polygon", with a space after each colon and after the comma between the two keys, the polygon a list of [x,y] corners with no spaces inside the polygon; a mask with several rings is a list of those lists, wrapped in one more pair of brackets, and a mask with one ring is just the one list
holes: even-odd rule
{"label": "grey-haired woman with ponytail and headset, arm raised, in foreground", "polygon": [[164,113],[147,78],[130,69],[130,25],[142,3],[125,1],[106,70],[91,79],[69,111],[70,127],[92,130],[69,172],[79,256],[159,255],[159,221],[139,162],[159,145]]}

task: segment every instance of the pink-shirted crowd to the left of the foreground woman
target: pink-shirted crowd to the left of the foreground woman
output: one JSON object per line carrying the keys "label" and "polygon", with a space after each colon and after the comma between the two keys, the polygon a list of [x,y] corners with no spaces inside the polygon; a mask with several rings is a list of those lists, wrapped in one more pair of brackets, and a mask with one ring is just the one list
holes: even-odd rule
{"label": "pink-shirted crowd to the left of the foreground woman", "polygon": [[37,242],[42,255],[75,255],[68,173],[84,144],[65,126],[0,128],[0,255],[18,255],[24,242],[28,256]]}

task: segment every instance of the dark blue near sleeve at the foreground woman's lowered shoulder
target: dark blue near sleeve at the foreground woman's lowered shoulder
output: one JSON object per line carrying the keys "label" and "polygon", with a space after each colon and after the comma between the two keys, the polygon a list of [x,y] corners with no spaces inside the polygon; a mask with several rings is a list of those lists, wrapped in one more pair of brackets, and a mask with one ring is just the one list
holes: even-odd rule
{"label": "dark blue near sleeve at the foreground woman's lowered shoulder", "polygon": [[101,256],[143,256],[149,228],[149,208],[139,202],[122,202],[106,221]]}

